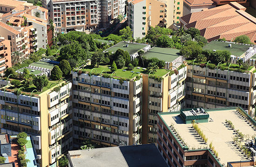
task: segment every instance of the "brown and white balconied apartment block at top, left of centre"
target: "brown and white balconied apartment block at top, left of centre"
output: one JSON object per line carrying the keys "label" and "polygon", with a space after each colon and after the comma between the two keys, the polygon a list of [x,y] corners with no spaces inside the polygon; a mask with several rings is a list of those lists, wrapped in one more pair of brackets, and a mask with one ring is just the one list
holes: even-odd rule
{"label": "brown and white balconied apartment block at top, left of centre", "polygon": [[125,13],[124,0],[43,0],[42,4],[49,10],[57,32],[108,26],[110,20]]}

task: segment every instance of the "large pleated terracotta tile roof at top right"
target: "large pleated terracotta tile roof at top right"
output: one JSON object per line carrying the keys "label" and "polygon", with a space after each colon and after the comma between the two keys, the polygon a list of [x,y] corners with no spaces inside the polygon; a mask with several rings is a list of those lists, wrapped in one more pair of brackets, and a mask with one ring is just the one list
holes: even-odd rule
{"label": "large pleated terracotta tile roof at top right", "polygon": [[240,35],[248,35],[256,41],[256,18],[244,11],[237,2],[190,13],[180,18],[185,27],[195,27],[209,41],[217,38],[232,40]]}

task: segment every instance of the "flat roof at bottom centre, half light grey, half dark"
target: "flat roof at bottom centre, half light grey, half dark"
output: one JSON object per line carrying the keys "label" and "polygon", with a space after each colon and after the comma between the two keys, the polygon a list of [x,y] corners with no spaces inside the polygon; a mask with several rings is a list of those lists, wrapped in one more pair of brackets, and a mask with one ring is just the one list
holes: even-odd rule
{"label": "flat roof at bottom centre, half light grey, half dark", "polygon": [[155,144],[76,150],[68,154],[74,167],[168,167]]}

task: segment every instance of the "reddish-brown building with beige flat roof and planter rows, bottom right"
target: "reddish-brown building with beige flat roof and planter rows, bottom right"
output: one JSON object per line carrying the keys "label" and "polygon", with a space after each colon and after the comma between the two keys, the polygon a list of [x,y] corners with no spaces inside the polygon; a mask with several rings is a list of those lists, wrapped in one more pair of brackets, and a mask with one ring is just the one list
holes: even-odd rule
{"label": "reddish-brown building with beige flat roof and planter rows, bottom right", "polygon": [[[234,127],[230,128],[230,122]],[[169,167],[255,165],[256,122],[242,108],[158,113],[157,126],[157,147]],[[238,130],[248,137],[240,137]],[[247,156],[243,148],[249,150]]]}

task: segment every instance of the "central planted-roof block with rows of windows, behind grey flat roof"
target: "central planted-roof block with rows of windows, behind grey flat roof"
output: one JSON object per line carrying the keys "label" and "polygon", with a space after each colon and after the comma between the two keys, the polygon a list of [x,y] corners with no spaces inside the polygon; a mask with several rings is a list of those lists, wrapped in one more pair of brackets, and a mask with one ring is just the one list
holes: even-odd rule
{"label": "central planted-roof block with rows of windows, behind grey flat roof", "polygon": [[[99,70],[94,68],[93,72],[95,69]],[[139,74],[124,80],[121,77],[129,75],[129,71],[111,77],[104,74],[108,67],[105,72],[97,71],[102,74],[99,76],[90,75],[90,69],[85,71],[72,72],[74,147],[87,139],[103,146],[141,144],[142,78],[136,77]]]}

